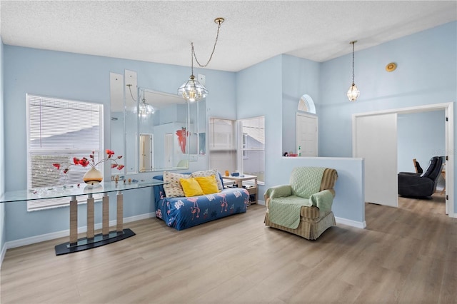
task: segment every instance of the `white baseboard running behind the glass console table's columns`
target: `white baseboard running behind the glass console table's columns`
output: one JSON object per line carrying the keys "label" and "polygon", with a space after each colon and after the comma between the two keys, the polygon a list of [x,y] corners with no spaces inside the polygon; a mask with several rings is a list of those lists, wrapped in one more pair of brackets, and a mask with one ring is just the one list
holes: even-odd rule
{"label": "white baseboard running behind the glass console table's columns", "polygon": [[[140,214],[139,216],[131,216],[129,218],[124,218],[124,223],[130,223],[134,221],[140,221],[144,220],[146,218],[155,218],[156,214],[155,213],[144,213]],[[116,226],[116,220],[109,221],[109,226]],[[101,229],[101,223],[96,223],[95,224],[95,229]],[[78,233],[84,233],[87,231],[87,226],[79,227],[78,228]],[[44,242],[45,240],[54,240],[56,238],[65,238],[70,235],[70,230],[61,230],[53,233],[46,233],[46,234],[41,234],[41,235],[35,235],[31,236],[30,238],[21,238],[19,240],[10,240],[9,242],[6,242],[4,245],[4,250],[2,250],[2,255],[1,255],[1,260],[3,260],[4,253],[6,253],[6,249],[9,248],[16,248],[16,247],[21,247],[25,245],[30,245],[34,243],[39,243],[39,242]]]}

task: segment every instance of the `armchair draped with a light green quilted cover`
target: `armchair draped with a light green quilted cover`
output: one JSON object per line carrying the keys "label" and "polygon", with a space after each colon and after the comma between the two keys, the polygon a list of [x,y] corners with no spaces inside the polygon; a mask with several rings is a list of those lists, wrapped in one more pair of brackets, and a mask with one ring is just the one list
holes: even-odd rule
{"label": "armchair draped with a light green quilted cover", "polygon": [[316,240],[336,225],[331,206],[337,178],[332,168],[293,168],[289,185],[274,186],[265,193],[265,225]]}

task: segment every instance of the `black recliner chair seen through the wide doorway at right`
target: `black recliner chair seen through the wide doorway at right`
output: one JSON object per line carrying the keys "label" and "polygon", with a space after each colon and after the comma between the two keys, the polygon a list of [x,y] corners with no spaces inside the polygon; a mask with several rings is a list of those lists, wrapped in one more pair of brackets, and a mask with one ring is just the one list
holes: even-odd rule
{"label": "black recliner chair seen through the wide doorway at right", "polygon": [[398,194],[410,198],[431,196],[441,174],[444,156],[433,156],[423,173],[398,173]]}

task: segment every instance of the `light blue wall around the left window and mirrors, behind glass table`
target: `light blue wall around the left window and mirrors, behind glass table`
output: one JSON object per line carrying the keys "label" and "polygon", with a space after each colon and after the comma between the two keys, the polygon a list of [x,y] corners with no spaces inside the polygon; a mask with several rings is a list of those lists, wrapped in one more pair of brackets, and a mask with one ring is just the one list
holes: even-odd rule
{"label": "light blue wall around the left window and mirrors, behind glass table", "polygon": [[[87,56],[59,51],[44,51],[16,46],[4,46],[4,123],[5,126],[5,190],[26,188],[26,93],[58,98],[92,101],[104,104],[104,146],[110,142],[110,89],[109,73],[124,74],[128,69],[136,71],[138,86],[154,91],[176,93],[176,89],[189,78],[190,68],[142,61]],[[208,115],[222,113],[236,117],[233,106],[236,98],[234,73],[196,69],[206,75],[206,98]],[[190,170],[201,170],[208,166],[207,157],[199,157],[190,163]],[[140,178],[151,178],[159,173],[144,173]],[[4,179],[2,178],[2,181]],[[152,189],[125,191],[124,216],[131,217],[154,212]],[[111,199],[114,211],[114,198]],[[100,208],[100,206],[96,206]],[[96,209],[97,210],[97,209]],[[69,208],[49,211],[27,212],[26,203],[6,203],[6,241],[28,238],[34,235],[53,233],[69,228]],[[85,207],[79,210],[79,226],[85,226]],[[96,211],[97,212],[97,211]],[[98,213],[100,214],[100,213]],[[111,219],[115,219],[114,213]],[[101,221],[96,218],[96,223]]]}

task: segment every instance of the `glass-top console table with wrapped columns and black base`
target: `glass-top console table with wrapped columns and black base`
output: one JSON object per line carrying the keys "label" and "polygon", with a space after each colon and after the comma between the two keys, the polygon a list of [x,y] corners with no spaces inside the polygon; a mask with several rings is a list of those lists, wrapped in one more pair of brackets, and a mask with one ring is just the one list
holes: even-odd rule
{"label": "glass-top console table with wrapped columns and black base", "polygon": [[[46,198],[70,199],[70,239],[69,242],[56,245],[56,255],[74,253],[114,243],[129,238],[135,233],[129,228],[124,229],[124,198],[122,191],[163,185],[164,181],[153,179],[148,182],[128,183],[127,181],[100,183],[89,186],[84,183],[54,188],[37,188],[22,191],[6,191],[0,197],[0,203],[19,201],[34,201]],[[116,230],[109,230],[109,196],[116,192]],[[102,228],[101,233],[94,233],[94,194],[104,193],[102,198]],[[77,196],[87,195],[87,233],[86,238],[78,238],[78,201]]]}

